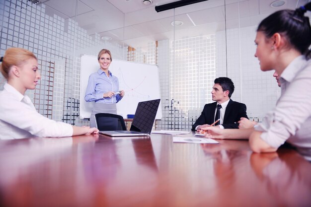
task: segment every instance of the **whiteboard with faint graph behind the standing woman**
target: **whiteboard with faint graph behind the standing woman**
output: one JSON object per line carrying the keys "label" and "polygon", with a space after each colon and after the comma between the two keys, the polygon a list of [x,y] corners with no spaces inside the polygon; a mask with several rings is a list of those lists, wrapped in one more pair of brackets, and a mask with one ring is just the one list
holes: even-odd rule
{"label": "whiteboard with faint graph behind the standing woman", "polygon": [[[80,119],[88,119],[94,102],[84,100],[88,77],[99,69],[96,56],[80,57]],[[160,98],[158,68],[153,65],[138,64],[112,59],[109,66],[111,73],[119,79],[119,89],[125,91],[124,97],[117,103],[117,113],[123,118],[135,114],[138,102]],[[156,119],[162,118],[161,102]]]}

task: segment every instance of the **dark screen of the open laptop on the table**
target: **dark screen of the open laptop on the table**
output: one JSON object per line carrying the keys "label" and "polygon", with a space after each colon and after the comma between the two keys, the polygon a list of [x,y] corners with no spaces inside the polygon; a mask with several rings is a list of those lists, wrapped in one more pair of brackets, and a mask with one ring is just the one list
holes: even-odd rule
{"label": "dark screen of the open laptop on the table", "polygon": [[150,134],[159,104],[160,99],[139,102],[130,131]]}

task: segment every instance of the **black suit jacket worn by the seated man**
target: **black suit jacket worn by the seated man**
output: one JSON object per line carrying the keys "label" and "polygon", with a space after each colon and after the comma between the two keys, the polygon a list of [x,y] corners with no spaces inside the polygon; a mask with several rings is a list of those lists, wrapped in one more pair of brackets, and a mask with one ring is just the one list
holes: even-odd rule
{"label": "black suit jacket worn by the seated man", "polygon": [[[213,124],[215,119],[216,105],[217,102],[205,104],[200,117],[192,126],[193,131],[198,125]],[[222,126],[224,126],[225,129],[238,129],[237,122],[241,117],[248,119],[246,115],[246,105],[230,99],[225,111],[224,123]]]}

